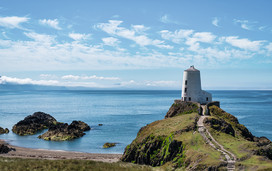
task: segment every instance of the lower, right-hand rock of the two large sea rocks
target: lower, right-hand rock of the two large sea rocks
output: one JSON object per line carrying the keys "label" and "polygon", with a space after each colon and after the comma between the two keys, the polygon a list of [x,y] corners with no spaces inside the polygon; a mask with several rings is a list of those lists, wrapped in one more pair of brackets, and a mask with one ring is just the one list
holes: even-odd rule
{"label": "lower, right-hand rock of the two large sea rocks", "polygon": [[82,121],[73,121],[70,125],[67,123],[57,123],[38,138],[48,141],[66,141],[82,137],[85,135],[84,131],[88,130],[90,130],[90,126]]}

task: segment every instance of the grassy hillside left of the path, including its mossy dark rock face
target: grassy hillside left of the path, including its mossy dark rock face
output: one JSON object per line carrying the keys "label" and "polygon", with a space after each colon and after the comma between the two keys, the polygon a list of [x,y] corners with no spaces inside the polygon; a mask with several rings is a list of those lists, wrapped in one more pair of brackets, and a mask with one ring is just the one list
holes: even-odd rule
{"label": "grassy hillside left of the path, including its mossy dark rock face", "polygon": [[[164,169],[179,168],[183,170],[192,168],[202,170],[209,167],[219,168],[222,164],[220,153],[207,145],[196,131],[198,118],[197,113],[176,115],[145,126],[139,131],[136,139],[126,148],[122,160],[131,160],[131,162],[140,164],[147,163],[141,163],[139,159],[150,160],[151,165],[161,166]],[[173,143],[173,141],[177,143]],[[151,149],[154,150],[151,152]],[[173,155],[172,150],[177,153]],[[158,165],[156,165],[157,161],[160,161]]]}

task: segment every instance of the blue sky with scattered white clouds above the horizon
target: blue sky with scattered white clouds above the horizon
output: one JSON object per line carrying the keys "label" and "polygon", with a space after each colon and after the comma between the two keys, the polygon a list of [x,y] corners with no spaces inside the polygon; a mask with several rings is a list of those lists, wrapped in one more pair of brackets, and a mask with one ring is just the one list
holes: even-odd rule
{"label": "blue sky with scattered white clouds above the horizon", "polygon": [[272,89],[269,0],[0,0],[0,84]]}

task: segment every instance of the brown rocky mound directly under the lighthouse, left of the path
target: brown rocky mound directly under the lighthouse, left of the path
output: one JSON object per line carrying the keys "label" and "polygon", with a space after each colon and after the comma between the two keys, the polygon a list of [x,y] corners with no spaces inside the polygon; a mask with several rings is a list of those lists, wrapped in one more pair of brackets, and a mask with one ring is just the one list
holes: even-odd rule
{"label": "brown rocky mound directly under the lighthouse, left of the path", "polygon": [[185,102],[176,100],[175,103],[170,107],[165,115],[166,118],[171,118],[180,114],[189,114],[192,112],[199,113],[199,107],[194,102]]}

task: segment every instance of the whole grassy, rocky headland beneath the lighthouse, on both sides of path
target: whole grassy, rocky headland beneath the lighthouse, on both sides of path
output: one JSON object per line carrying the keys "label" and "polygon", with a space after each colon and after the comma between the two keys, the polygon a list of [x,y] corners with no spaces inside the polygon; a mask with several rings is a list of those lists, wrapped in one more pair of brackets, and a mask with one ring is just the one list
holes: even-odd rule
{"label": "whole grassy, rocky headland beneath the lighthouse, on both sides of path", "polygon": [[[211,136],[237,159],[237,170],[272,168],[272,143],[255,137],[238,119],[221,108],[208,107],[203,123]],[[165,119],[140,129],[126,147],[122,161],[177,170],[225,170],[225,157],[212,148],[197,131],[201,106],[174,103]]]}

